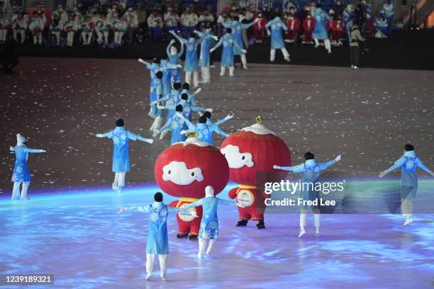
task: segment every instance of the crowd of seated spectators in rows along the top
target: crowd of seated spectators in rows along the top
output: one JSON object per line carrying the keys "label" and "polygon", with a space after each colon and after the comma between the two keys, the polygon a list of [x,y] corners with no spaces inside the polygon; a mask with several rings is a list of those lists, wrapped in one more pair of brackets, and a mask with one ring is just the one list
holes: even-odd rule
{"label": "crowd of seated spectators in rows along the top", "polygon": [[[243,31],[246,45],[267,42],[265,24],[280,16],[288,33],[285,41],[311,45],[315,28],[316,8],[328,13],[330,40],[335,46],[347,40],[351,26],[357,23],[367,35],[386,38],[391,33],[393,4],[384,0],[384,7],[375,18],[365,0],[323,0],[321,5],[311,0],[260,1],[253,8],[248,0],[234,1],[216,11],[217,1],[161,1],[135,3],[133,0],[66,0],[60,3],[50,17],[42,9],[29,15],[12,0],[0,0],[0,44],[15,40],[18,44],[45,46],[100,46],[121,47],[146,41],[162,41],[172,37],[174,30],[184,38],[192,31],[211,28],[217,35],[224,33],[221,23],[234,19],[250,23],[259,18],[252,28]],[[351,3],[351,4],[348,4]],[[48,21],[50,19],[50,21]]]}

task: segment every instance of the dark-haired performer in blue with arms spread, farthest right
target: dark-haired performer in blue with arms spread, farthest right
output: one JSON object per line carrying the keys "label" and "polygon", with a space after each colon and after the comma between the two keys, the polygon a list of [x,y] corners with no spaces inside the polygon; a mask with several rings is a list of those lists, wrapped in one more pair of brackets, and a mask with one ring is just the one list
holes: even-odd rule
{"label": "dark-haired performer in blue with arms spread, farthest right", "polygon": [[401,213],[406,217],[404,222],[404,226],[406,226],[414,221],[413,198],[416,198],[416,191],[418,191],[418,168],[423,169],[431,176],[434,176],[434,173],[422,163],[414,151],[413,145],[410,144],[405,145],[403,156],[389,169],[382,171],[379,177],[382,178],[399,167],[401,167]]}

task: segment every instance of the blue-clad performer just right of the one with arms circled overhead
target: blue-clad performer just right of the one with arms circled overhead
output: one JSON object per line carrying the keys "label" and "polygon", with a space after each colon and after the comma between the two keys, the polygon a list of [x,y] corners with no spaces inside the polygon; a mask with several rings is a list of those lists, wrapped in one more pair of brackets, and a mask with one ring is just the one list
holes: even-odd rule
{"label": "blue-clad performer just right of the one with arms circled overhead", "polygon": [[191,84],[191,74],[193,74],[193,86],[196,87],[199,85],[199,58],[197,50],[199,44],[201,44],[204,38],[189,38],[187,40],[174,32],[172,32],[172,35],[174,35],[174,37],[186,47],[184,63],[185,82],[187,82],[187,84]]}

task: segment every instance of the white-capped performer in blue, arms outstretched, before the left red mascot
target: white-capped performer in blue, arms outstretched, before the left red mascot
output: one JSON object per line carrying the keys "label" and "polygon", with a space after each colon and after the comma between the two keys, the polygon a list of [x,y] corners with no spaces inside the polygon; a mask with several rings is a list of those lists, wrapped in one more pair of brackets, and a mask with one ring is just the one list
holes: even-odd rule
{"label": "white-capped performer in blue, arms outstretched, before the left red mascot", "polygon": [[217,207],[219,204],[240,206],[236,202],[216,198],[216,196],[214,196],[213,187],[207,186],[205,188],[205,198],[201,198],[194,203],[190,203],[189,205],[182,207],[184,210],[188,210],[189,208],[202,206],[204,210],[202,213],[201,227],[199,229],[199,253],[197,254],[198,259],[204,259],[204,254],[211,256],[211,249],[213,248],[214,242],[216,242],[216,239],[218,238]]}

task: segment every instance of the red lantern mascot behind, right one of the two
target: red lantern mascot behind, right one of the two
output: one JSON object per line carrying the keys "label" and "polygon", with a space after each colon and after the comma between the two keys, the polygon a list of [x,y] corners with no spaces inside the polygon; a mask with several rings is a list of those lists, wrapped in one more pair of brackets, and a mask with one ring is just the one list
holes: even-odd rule
{"label": "red lantern mascot behind, right one of the two", "polygon": [[255,125],[227,137],[220,150],[228,160],[230,181],[239,184],[229,191],[229,198],[236,198],[237,203],[245,207],[238,207],[237,227],[245,227],[248,220],[256,220],[257,228],[264,229],[265,198],[269,198],[264,193],[264,184],[285,178],[285,174],[273,169],[273,164],[291,165],[288,147],[257,117]]}

